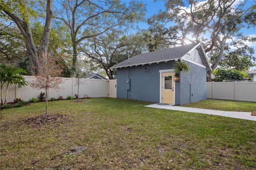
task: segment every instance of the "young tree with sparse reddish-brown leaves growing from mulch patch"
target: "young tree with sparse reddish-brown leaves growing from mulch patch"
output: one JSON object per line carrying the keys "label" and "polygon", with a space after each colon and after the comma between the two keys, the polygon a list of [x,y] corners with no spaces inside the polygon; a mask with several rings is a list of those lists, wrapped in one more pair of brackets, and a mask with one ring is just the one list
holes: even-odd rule
{"label": "young tree with sparse reddish-brown leaves growing from mulch patch", "polygon": [[59,77],[63,67],[58,64],[56,58],[48,56],[47,60],[41,63],[35,80],[30,83],[30,86],[37,89],[45,90],[45,118],[48,114],[49,89],[60,89],[60,84],[63,82]]}

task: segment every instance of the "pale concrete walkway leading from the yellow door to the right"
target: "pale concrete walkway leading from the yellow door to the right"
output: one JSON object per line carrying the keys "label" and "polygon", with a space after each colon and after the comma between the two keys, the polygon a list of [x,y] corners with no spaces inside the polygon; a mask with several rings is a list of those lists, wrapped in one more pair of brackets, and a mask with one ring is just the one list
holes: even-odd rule
{"label": "pale concrete walkway leading from the yellow door to the right", "polygon": [[172,106],[172,105],[157,105],[157,104],[147,105],[146,107],[170,109],[173,111],[183,111],[183,112],[193,112],[193,113],[201,113],[201,114],[209,114],[209,115],[218,115],[218,116],[241,118],[241,119],[245,119],[245,120],[256,121],[256,116],[251,116],[250,112],[215,111],[215,110],[203,109],[203,108],[181,107],[181,106]]}

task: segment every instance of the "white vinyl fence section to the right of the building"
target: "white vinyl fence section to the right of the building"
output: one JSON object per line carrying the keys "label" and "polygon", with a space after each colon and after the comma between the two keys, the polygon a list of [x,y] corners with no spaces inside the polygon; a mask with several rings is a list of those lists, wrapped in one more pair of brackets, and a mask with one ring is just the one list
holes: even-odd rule
{"label": "white vinyl fence section to the right of the building", "polygon": [[256,82],[207,82],[207,98],[256,101]]}

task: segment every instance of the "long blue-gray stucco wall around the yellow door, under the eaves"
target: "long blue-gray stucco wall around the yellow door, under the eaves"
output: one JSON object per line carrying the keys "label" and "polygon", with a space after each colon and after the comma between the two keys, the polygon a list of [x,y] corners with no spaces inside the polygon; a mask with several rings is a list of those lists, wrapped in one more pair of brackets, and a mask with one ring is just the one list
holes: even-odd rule
{"label": "long blue-gray stucco wall around the yellow door, under the eaves", "polygon": [[[147,72],[145,72],[145,68]],[[159,70],[167,69],[173,69],[173,61],[117,69],[117,97],[159,103]],[[127,90],[126,81],[129,78],[130,90]],[[178,86],[179,83],[176,83],[175,89],[179,89]],[[179,96],[179,91],[175,90],[175,99],[177,95]]]}

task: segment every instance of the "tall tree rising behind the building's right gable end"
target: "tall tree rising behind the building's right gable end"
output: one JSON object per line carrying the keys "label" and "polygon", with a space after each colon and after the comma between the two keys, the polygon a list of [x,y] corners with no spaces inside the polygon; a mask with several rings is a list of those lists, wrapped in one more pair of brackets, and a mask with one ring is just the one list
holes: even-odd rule
{"label": "tall tree rising behind the building's right gable end", "polygon": [[[256,5],[248,7],[246,1],[190,0],[188,5],[187,7],[182,1],[168,1],[166,11],[154,15],[148,22],[153,28],[161,25],[158,26],[162,28],[162,41],[159,44],[166,43],[167,40],[170,45],[203,41],[206,53],[215,49],[217,56],[212,60],[212,70],[222,60],[227,40],[244,37],[242,28],[255,27]],[[171,26],[166,27],[170,23]],[[211,70],[207,70],[207,77],[211,81]]]}

